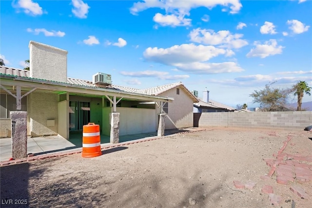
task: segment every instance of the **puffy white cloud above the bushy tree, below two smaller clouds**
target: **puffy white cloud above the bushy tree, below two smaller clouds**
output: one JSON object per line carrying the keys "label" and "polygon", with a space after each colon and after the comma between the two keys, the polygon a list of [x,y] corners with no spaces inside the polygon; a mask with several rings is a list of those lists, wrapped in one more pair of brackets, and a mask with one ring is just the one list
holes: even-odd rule
{"label": "puffy white cloud above the bushy tree, below two smaller clouds", "polygon": [[254,42],[255,48],[251,49],[250,52],[246,55],[248,58],[251,57],[260,57],[265,58],[268,56],[273,56],[276,54],[281,54],[283,51],[283,46],[277,45],[275,39],[264,42],[261,44],[259,42]]}

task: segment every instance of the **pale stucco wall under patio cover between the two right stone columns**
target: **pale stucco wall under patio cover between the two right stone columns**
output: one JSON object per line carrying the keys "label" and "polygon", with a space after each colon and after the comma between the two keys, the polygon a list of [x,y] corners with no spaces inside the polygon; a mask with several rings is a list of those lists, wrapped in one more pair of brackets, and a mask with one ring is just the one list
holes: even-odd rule
{"label": "pale stucco wall under patio cover between the two right stone columns", "polygon": [[156,131],[155,109],[117,107],[117,113],[120,136]]}

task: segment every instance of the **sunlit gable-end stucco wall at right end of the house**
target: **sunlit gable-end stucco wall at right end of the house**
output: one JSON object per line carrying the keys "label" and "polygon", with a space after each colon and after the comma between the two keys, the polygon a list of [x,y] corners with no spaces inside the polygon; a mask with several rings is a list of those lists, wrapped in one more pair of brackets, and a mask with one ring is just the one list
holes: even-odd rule
{"label": "sunlit gable-end stucco wall at right end of the house", "polygon": [[[179,95],[176,94],[176,88],[180,89]],[[176,88],[160,94],[160,96],[163,97],[175,98],[172,103],[168,103],[168,115],[165,117],[165,129],[193,126],[193,100],[186,94],[182,87]]]}

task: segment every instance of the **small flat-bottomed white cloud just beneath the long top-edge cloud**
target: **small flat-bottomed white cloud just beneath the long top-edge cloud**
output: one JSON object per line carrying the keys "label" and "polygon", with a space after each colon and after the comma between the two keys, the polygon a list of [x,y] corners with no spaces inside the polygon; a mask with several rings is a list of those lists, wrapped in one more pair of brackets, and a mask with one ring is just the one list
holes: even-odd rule
{"label": "small flat-bottomed white cloud just beneath the long top-edge cloud", "polygon": [[160,24],[161,26],[190,26],[191,25],[191,19],[184,18],[184,15],[176,16],[174,14],[172,15],[162,15],[160,13],[156,13],[153,20]]}

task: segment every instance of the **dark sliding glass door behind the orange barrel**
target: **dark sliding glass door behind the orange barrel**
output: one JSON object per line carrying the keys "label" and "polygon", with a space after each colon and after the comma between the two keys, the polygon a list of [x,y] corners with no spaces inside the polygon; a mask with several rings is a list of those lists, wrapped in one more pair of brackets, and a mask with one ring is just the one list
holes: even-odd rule
{"label": "dark sliding glass door behind the orange barrel", "polygon": [[90,122],[90,103],[70,101],[69,102],[69,130],[82,130],[83,125]]}

